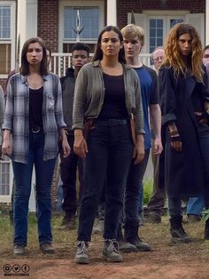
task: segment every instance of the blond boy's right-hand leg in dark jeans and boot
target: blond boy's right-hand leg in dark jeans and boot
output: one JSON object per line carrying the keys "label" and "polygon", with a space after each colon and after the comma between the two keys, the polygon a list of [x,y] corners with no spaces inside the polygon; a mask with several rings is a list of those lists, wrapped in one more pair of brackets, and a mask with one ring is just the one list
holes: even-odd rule
{"label": "blond boy's right-hand leg in dark jeans and boot", "polygon": [[142,196],[143,187],[143,175],[146,170],[148,163],[148,158],[150,154],[150,149],[145,150],[145,155],[141,163],[135,164],[133,161],[131,163],[127,185],[125,190],[125,202],[124,202],[124,212],[125,212],[125,239],[128,243],[134,244],[139,251],[150,251],[151,248],[147,243],[143,243],[138,237],[139,228],[139,205],[140,203],[140,193]]}

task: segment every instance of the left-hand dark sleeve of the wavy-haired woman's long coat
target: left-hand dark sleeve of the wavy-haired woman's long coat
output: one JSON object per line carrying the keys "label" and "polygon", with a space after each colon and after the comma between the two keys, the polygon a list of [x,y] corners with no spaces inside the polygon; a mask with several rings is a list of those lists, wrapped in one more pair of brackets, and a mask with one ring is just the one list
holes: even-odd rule
{"label": "left-hand dark sleeve of the wavy-haired woman's long coat", "polygon": [[162,124],[176,120],[176,100],[174,91],[174,73],[171,68],[159,69],[159,92],[162,111]]}

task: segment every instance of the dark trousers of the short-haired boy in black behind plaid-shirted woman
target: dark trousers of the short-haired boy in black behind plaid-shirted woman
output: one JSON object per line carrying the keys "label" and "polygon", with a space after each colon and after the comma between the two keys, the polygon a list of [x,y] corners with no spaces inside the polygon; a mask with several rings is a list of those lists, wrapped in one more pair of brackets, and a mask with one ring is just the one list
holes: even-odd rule
{"label": "dark trousers of the short-haired boy in black behind plaid-shirted woman", "polygon": [[68,157],[63,157],[63,151],[60,152],[60,177],[63,182],[63,203],[62,209],[66,215],[72,216],[77,211],[76,195],[76,173],[79,171],[80,181],[80,198],[83,191],[83,160],[74,154],[74,135],[67,136],[68,143],[71,147],[71,153]]}

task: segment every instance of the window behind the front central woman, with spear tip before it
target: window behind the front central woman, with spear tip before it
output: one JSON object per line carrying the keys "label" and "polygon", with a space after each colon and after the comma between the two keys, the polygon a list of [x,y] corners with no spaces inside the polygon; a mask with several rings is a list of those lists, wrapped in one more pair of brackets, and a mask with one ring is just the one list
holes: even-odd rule
{"label": "window behind the front central woman, with spear tip before it", "polygon": [[[89,44],[91,52],[97,43],[99,31],[104,27],[104,1],[60,1],[59,52],[71,52],[76,42],[76,21],[80,18],[80,41]],[[73,29],[74,28],[74,29]]]}

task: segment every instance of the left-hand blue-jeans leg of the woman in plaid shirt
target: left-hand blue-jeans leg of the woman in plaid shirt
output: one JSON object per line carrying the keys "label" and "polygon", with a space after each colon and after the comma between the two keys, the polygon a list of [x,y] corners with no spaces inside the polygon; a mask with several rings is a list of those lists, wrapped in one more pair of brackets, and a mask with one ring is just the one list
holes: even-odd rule
{"label": "left-hand blue-jeans leg of the woman in plaid shirt", "polygon": [[[29,150],[28,152],[27,163],[12,161],[15,180],[13,204],[14,246],[27,246],[27,213],[31,191],[33,163],[34,155],[32,150]],[[19,175],[19,173],[21,175]]]}

